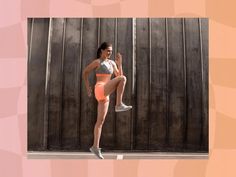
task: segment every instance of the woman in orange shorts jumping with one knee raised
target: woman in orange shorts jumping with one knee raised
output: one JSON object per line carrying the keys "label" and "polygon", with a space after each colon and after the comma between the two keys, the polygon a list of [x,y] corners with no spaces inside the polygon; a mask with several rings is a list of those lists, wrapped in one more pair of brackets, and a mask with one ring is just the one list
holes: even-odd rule
{"label": "woman in orange shorts jumping with one knee raised", "polygon": [[[97,50],[97,59],[91,62],[83,71],[83,79],[87,89],[89,97],[92,96],[92,89],[88,81],[88,75],[92,70],[96,72],[97,82],[95,85],[95,97],[98,101],[97,109],[97,122],[94,127],[94,142],[90,151],[94,153],[98,158],[104,159],[101,154],[101,148],[99,148],[99,142],[102,132],[102,125],[105,121],[105,117],[109,106],[109,95],[117,91],[115,111],[127,111],[132,106],[126,106],[122,102],[124,88],[126,84],[126,77],[123,75],[122,70],[122,56],[116,55],[115,62],[110,60],[112,54],[112,45],[104,42]],[[115,78],[111,79],[111,75],[115,74]]]}

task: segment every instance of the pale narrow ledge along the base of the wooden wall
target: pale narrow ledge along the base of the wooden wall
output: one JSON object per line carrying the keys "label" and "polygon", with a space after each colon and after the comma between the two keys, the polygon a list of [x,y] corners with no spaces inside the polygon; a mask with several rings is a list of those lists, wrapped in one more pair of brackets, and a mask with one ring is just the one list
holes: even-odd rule
{"label": "pale narrow ledge along the base of the wooden wall", "polygon": [[[102,153],[105,159],[208,159],[208,153]],[[29,159],[97,159],[90,152],[28,152]]]}

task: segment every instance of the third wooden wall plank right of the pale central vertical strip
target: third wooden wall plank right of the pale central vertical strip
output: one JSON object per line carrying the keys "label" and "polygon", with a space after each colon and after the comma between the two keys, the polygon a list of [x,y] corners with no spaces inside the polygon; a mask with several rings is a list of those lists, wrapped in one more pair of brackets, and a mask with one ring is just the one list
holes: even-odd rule
{"label": "third wooden wall plank right of the pale central vertical strip", "polygon": [[181,19],[168,19],[169,68],[169,137],[170,149],[183,145],[183,118],[185,114],[183,37]]}

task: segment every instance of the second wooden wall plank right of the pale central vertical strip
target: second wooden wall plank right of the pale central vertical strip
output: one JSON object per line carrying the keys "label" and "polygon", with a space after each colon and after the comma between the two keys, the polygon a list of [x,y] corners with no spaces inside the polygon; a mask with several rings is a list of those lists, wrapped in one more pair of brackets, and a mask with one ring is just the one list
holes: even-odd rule
{"label": "second wooden wall plank right of the pale central vertical strip", "polygon": [[151,19],[150,149],[165,147],[166,139],[166,32],[165,19]]}

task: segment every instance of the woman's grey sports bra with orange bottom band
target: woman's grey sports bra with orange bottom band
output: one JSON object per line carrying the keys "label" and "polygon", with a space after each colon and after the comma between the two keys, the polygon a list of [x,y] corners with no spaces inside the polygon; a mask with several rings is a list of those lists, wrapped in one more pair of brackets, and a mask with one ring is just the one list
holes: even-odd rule
{"label": "woman's grey sports bra with orange bottom band", "polygon": [[112,60],[101,60],[100,66],[95,70],[96,76],[111,75],[113,73],[113,63]]}

